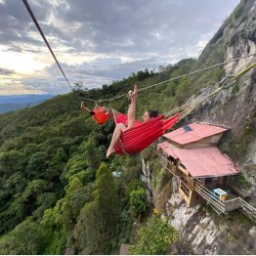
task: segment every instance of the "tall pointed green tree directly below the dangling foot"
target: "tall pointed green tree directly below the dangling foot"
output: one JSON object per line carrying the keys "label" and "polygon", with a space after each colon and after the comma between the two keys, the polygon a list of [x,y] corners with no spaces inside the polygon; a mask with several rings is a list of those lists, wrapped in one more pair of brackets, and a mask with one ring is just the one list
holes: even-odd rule
{"label": "tall pointed green tree directly below the dangling foot", "polygon": [[74,229],[75,245],[82,254],[104,254],[119,214],[113,177],[102,163],[96,175],[95,199],[82,208]]}

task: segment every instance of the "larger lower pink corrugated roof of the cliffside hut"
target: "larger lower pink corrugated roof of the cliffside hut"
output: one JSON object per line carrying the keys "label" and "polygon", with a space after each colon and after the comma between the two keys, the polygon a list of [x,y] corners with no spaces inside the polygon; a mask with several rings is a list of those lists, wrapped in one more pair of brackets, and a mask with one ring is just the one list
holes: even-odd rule
{"label": "larger lower pink corrugated roof of the cliffside hut", "polygon": [[[169,145],[169,146],[168,146]],[[168,155],[180,158],[193,178],[221,177],[238,174],[235,163],[216,147],[203,149],[172,149],[165,142],[158,144]]]}

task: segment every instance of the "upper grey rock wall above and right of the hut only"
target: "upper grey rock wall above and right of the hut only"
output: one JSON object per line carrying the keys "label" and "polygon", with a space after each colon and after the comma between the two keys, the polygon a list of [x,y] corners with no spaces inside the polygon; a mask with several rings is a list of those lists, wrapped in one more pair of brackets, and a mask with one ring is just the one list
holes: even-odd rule
{"label": "upper grey rock wall above and right of the hut only", "polygon": [[[220,30],[222,36],[217,41],[212,42],[212,40],[209,44],[213,48],[218,48],[220,44],[226,45],[224,62],[256,54],[256,2],[241,1],[234,14]],[[224,68],[226,75],[236,75],[250,64],[255,63],[256,55],[226,64]],[[215,88],[218,86],[219,84],[216,84]],[[207,95],[213,89],[204,88],[197,97]],[[222,90],[202,104],[197,111],[193,112],[189,121],[223,124],[231,128],[223,143],[225,145],[230,141],[228,147],[232,148],[236,140],[236,148],[246,148],[244,157],[236,155],[241,151],[239,149],[236,154],[231,152],[230,156],[237,156],[234,160],[251,185],[247,188],[252,195],[251,202],[256,203],[256,68],[242,75],[235,85]]]}

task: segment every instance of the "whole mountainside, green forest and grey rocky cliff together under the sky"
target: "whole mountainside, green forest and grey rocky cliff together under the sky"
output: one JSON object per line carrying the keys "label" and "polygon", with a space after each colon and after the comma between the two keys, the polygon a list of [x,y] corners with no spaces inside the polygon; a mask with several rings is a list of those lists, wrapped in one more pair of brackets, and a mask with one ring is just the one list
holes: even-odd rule
{"label": "whole mountainside, green forest and grey rocky cliff together under the sky", "polygon": [[[150,75],[137,73],[101,89],[81,92],[81,96],[112,98],[126,94],[135,83],[144,88],[199,67],[246,56],[256,49],[256,40],[251,36],[256,29],[255,11],[255,1],[241,1],[198,60],[170,64]],[[248,30],[244,30],[246,27]],[[147,109],[166,112],[208,95],[227,74],[255,61],[250,58],[219,66],[140,92],[137,116]],[[251,193],[252,203],[256,198],[255,73],[255,68],[250,70],[234,86],[209,98],[176,125],[208,121],[232,128],[220,148],[241,167],[244,175],[236,182]],[[138,246],[138,254],[146,254],[146,248],[139,246],[138,231],[144,237],[150,234],[147,242],[158,249],[155,254],[255,253],[255,232],[250,220],[238,212],[218,216],[207,205],[188,208],[175,186],[171,192],[163,190],[165,185],[172,186],[172,180],[159,167],[151,148],[140,155],[107,160],[114,122],[109,118],[105,125],[97,125],[79,109],[80,101],[78,92],[74,92],[0,115],[0,254],[118,254],[123,242]],[[86,104],[94,107],[93,103]],[[126,99],[111,103],[122,112],[127,111],[127,106]],[[148,187],[140,181],[142,165],[149,171]],[[112,177],[112,171],[121,172],[121,177]],[[147,193],[146,187],[152,190]],[[179,237],[171,234],[176,239],[170,241],[171,245],[159,243],[169,236],[162,239],[158,228],[165,229],[165,223],[161,226],[163,218],[152,214],[153,205],[147,201],[150,195],[156,198],[164,192],[168,202],[174,203],[171,206],[166,202],[160,216],[168,213],[179,233]],[[139,203],[133,204],[134,201]],[[150,226],[151,233],[147,233],[147,220],[151,218],[157,219],[157,225]]]}

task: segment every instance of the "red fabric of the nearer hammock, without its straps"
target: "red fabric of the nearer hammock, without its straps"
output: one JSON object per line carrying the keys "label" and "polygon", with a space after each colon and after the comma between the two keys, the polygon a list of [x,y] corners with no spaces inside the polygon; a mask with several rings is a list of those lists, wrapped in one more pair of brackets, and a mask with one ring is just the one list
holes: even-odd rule
{"label": "red fabric of the nearer hammock, without its straps", "polygon": [[[115,146],[115,152],[123,155],[125,152],[129,154],[136,154],[143,149],[146,149],[158,137],[162,136],[164,132],[170,129],[179,121],[181,113],[177,113],[168,119],[164,120],[164,115],[159,115],[155,118],[149,119],[145,123],[136,122],[133,128],[124,131],[121,134],[119,142]],[[113,112],[115,123],[126,123],[127,117],[122,113]]]}

